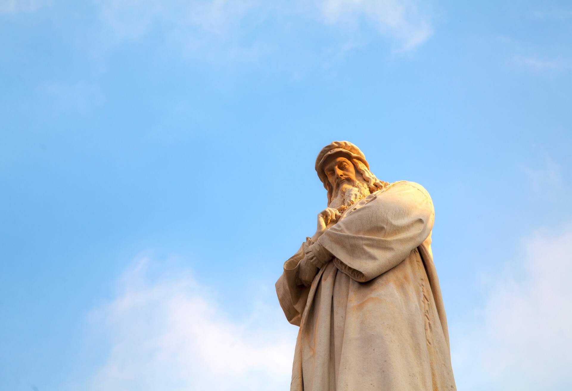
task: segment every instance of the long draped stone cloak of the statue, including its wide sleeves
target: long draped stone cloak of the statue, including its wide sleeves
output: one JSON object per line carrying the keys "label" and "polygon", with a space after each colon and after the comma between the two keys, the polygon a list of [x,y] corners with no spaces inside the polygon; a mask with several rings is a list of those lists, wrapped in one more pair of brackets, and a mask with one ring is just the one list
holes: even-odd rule
{"label": "long draped stone cloak of the statue, including its wide sleeves", "polygon": [[[392,183],[346,210],[284,263],[276,293],[300,326],[291,391],[455,390],[431,253],[427,191]],[[304,257],[319,267],[297,278]]]}

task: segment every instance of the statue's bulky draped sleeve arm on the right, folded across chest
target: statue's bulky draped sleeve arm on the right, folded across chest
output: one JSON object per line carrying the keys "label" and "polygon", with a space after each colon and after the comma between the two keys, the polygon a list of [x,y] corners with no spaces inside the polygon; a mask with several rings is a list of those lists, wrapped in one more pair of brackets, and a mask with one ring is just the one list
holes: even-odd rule
{"label": "statue's bulky draped sleeve arm on the right, folded across chest", "polygon": [[431,232],[431,197],[419,184],[402,182],[380,193],[329,228],[312,246],[331,254],[340,271],[358,282],[396,266]]}

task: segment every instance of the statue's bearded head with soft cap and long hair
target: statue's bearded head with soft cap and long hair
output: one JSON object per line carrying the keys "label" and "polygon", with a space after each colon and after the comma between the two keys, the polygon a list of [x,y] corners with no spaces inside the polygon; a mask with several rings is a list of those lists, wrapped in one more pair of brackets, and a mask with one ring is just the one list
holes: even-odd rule
{"label": "statue's bearded head with soft cap and long hair", "polygon": [[327,190],[328,206],[340,211],[387,185],[375,177],[362,151],[349,141],[333,141],[322,148],[316,172]]}

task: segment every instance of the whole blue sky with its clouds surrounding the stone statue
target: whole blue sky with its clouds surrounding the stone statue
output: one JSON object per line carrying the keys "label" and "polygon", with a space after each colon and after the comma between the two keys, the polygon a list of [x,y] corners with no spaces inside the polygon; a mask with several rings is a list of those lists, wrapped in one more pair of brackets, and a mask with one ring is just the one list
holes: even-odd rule
{"label": "whole blue sky with its clouds surrounding the stone statue", "polygon": [[460,390],[572,386],[568,2],[0,0],[0,389],[287,389],[317,152],[424,185]]}

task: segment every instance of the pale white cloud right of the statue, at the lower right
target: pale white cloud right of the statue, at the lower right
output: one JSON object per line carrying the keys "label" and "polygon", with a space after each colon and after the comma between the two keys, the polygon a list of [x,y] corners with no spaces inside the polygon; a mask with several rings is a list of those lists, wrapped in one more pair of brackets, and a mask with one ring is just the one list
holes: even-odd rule
{"label": "pale white cloud right of the statue, at the lower right", "polygon": [[451,329],[460,390],[572,388],[572,226],[537,232],[499,265],[475,318]]}

